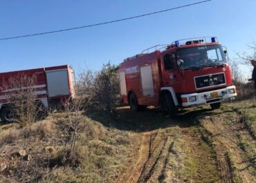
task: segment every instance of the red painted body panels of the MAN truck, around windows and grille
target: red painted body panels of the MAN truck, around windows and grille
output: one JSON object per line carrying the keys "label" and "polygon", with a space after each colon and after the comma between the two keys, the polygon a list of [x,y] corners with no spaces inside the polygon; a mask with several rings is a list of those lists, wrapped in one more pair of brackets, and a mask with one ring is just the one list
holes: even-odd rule
{"label": "red painted body panels of the MAN truck, around windows and grille", "polygon": [[[230,75],[230,67],[228,64],[224,67],[208,67],[203,68],[201,70],[180,70],[178,66],[175,66],[175,70],[165,70],[163,55],[167,53],[174,53],[176,50],[180,48],[191,48],[195,46],[210,46],[210,45],[219,45],[219,43],[199,43],[192,45],[184,45],[181,47],[172,46],[172,48],[168,48],[167,50],[160,51],[157,50],[155,52],[139,55],[138,57],[127,59],[120,64],[119,73],[125,71],[127,68],[131,68],[134,66],[140,67],[151,65],[152,66],[152,78],[154,84],[154,96],[143,96],[142,93],[142,84],[140,79],[140,72],[125,74],[126,81],[126,89],[127,95],[122,95],[125,104],[129,104],[128,95],[129,92],[134,92],[136,94],[138,104],[145,106],[159,106],[159,97],[162,87],[172,87],[176,94],[188,94],[188,93],[200,93],[203,91],[214,90],[218,88],[225,88],[227,86],[232,85],[232,78]],[[225,68],[225,71],[223,71]],[[209,75],[214,73],[225,73],[226,76],[226,84],[223,86],[211,86],[208,88],[197,89],[194,85],[194,77]],[[174,79],[170,79],[170,75],[174,77]]]}

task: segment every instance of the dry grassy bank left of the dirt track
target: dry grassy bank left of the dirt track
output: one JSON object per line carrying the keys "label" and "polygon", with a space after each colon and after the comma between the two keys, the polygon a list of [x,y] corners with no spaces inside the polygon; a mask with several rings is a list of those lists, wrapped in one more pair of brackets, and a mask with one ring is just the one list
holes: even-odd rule
{"label": "dry grassy bank left of the dirt track", "polygon": [[[17,124],[0,126],[0,160],[8,167],[0,173],[4,182],[114,182],[125,170],[131,135],[107,128],[84,116],[77,148],[70,155],[64,133],[65,113],[20,128]],[[46,151],[53,146],[54,151]],[[19,149],[32,156],[17,157]],[[0,181],[0,182],[1,182]]]}

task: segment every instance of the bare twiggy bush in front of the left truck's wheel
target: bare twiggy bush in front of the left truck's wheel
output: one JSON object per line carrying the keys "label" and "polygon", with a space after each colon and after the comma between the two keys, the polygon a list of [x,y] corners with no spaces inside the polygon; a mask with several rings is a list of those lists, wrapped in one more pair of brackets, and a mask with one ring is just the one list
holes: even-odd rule
{"label": "bare twiggy bush in front of the left truck's wheel", "polygon": [[17,122],[27,126],[35,122],[39,115],[45,115],[46,109],[35,94],[35,75],[25,74],[10,77],[3,81],[1,88],[6,104],[1,109],[1,118],[6,122]]}

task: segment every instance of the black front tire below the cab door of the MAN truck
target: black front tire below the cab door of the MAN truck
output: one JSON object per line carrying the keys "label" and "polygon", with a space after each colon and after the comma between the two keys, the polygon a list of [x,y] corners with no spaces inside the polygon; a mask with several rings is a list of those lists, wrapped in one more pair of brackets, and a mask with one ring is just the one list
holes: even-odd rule
{"label": "black front tire below the cab door of the MAN truck", "polygon": [[172,95],[170,93],[164,94],[163,104],[164,106],[161,108],[164,108],[165,110],[167,110],[168,115],[175,118],[177,116],[177,109],[172,99]]}

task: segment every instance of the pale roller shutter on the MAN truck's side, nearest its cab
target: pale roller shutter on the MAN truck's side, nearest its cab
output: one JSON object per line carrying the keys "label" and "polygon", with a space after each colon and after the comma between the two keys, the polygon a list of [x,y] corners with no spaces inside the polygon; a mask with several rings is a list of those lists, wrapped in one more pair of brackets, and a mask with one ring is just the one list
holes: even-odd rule
{"label": "pale roller shutter on the MAN truck's side, nearest its cab", "polygon": [[140,67],[141,84],[144,96],[154,96],[154,85],[151,66]]}

